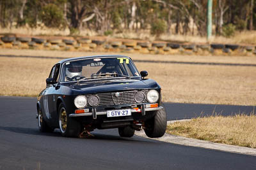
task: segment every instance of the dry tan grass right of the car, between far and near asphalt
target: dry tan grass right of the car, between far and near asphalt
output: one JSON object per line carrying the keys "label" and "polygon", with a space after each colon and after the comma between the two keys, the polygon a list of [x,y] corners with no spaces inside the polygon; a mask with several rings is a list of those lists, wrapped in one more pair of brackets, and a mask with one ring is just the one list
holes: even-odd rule
{"label": "dry tan grass right of the car, between far and near asphalt", "polygon": [[136,63],[163,88],[163,101],[255,105],[256,67]]}

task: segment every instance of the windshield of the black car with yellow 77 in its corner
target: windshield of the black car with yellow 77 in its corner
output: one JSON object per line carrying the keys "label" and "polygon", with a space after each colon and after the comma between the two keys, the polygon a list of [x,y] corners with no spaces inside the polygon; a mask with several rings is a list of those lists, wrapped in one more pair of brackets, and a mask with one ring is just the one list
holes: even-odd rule
{"label": "windshield of the black car with yellow 77 in its corner", "polygon": [[65,62],[61,81],[82,81],[96,78],[131,78],[140,76],[130,59],[108,57]]}

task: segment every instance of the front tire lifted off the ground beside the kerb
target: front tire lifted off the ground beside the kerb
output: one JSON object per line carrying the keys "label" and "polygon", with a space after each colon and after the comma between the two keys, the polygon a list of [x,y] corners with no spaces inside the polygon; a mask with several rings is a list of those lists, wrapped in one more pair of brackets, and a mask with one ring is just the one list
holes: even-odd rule
{"label": "front tire lifted off the ground beside the kerb", "polygon": [[166,131],[166,125],[167,118],[164,108],[163,110],[156,111],[156,115],[145,122],[145,134],[149,138],[160,138]]}

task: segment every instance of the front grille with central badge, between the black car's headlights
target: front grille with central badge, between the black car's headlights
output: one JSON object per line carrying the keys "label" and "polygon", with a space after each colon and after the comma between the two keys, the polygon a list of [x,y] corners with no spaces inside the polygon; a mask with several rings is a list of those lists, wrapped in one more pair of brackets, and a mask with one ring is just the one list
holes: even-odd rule
{"label": "front grille with central badge, between the black car's headlights", "polygon": [[[99,96],[100,99],[99,106],[115,104],[135,104],[136,101],[134,100],[134,94],[136,92],[138,92],[138,90],[118,92],[119,96],[116,95],[116,92],[97,94],[97,96]],[[143,103],[147,103],[148,90],[141,90],[140,92],[143,92],[143,94],[145,94],[145,99]]]}

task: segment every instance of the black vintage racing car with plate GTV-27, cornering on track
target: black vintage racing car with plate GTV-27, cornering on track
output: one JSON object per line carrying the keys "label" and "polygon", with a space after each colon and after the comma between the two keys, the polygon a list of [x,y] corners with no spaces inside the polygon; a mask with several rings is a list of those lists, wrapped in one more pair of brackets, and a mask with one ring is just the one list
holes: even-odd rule
{"label": "black vintage racing car with plate GTV-27, cornering on track", "polygon": [[41,132],[60,128],[66,137],[118,128],[122,137],[144,129],[150,138],[166,131],[161,87],[120,55],[77,57],[55,64],[37,98]]}

